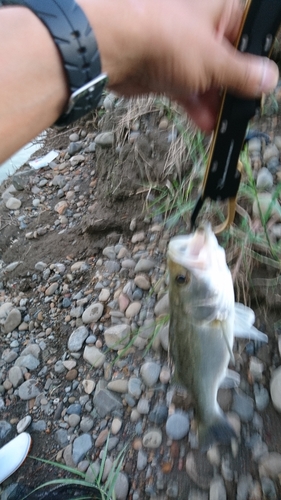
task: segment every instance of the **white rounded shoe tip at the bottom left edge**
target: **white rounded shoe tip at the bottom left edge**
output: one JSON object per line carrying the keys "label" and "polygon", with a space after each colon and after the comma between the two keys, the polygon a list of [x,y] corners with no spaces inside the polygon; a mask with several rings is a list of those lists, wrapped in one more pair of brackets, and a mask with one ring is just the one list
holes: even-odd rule
{"label": "white rounded shoe tip at the bottom left edge", "polygon": [[22,432],[0,448],[0,484],[21,466],[30,448],[31,437],[27,432]]}

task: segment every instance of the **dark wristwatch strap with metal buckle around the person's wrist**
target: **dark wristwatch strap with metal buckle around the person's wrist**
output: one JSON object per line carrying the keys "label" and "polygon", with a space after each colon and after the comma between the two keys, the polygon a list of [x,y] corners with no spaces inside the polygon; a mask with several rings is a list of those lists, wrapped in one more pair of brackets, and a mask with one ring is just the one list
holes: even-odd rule
{"label": "dark wristwatch strap with metal buckle around the person's wrist", "polygon": [[107,83],[94,32],[74,0],[2,0],[0,5],[27,7],[49,30],[68,80],[68,105],[55,125],[64,127],[97,107]]}

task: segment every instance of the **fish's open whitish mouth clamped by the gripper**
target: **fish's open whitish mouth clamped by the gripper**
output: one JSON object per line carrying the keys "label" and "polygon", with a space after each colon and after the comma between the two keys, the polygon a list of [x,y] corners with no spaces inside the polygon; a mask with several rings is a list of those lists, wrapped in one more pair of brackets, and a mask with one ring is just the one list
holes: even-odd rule
{"label": "fish's open whitish mouth clamped by the gripper", "polygon": [[195,233],[175,236],[170,240],[168,257],[187,269],[206,269],[208,252],[218,246],[210,223],[200,225]]}

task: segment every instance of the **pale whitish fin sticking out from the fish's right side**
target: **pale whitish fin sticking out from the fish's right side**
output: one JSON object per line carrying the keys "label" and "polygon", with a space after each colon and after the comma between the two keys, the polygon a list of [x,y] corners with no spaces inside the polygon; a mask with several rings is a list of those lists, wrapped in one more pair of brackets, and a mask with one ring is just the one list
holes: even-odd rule
{"label": "pale whitish fin sticking out from the fish's right side", "polygon": [[268,342],[265,333],[260,332],[253,326],[255,313],[250,307],[235,303],[234,316],[234,336],[246,339],[253,339],[259,342]]}

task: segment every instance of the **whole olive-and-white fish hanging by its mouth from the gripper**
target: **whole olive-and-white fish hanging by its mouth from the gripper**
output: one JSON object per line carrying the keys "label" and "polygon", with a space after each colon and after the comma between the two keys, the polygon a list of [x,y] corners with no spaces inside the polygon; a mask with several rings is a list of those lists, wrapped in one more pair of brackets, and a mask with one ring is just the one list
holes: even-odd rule
{"label": "whole olive-and-white fish hanging by its mouth from the gripper", "polygon": [[228,369],[234,337],[267,342],[267,335],[253,326],[252,309],[235,302],[225,250],[209,223],[173,237],[167,264],[173,381],[191,393],[199,447],[230,444],[237,436],[217,395],[229,377],[239,385],[239,375]]}

